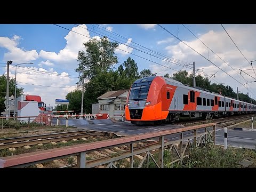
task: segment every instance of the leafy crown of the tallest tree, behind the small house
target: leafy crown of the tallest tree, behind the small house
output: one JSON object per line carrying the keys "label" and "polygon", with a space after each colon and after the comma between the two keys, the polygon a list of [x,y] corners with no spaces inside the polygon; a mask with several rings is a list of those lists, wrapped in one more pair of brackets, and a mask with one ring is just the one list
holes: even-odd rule
{"label": "leafy crown of the tallest tree, behind the small house", "polygon": [[[100,73],[100,71],[108,71],[118,62],[115,49],[117,42],[110,42],[107,37],[98,39],[90,39],[83,43],[85,51],[78,51],[77,61],[78,67],[76,72],[82,77],[91,79]],[[81,79],[80,79],[81,80]]]}

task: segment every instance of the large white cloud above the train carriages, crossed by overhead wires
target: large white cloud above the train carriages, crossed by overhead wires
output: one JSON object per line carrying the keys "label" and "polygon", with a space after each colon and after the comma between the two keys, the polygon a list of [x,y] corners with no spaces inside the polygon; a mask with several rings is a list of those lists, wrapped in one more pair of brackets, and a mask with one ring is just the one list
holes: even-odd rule
{"label": "large white cloud above the train carriages, crossed by overhead wires", "polygon": [[[256,59],[256,51],[254,49],[256,44],[256,38],[254,31],[256,30],[256,25],[233,25],[233,26],[225,26],[226,30],[228,31],[229,35],[233,38],[236,45],[245,55],[245,57],[251,61]],[[219,55],[223,60],[225,60],[231,67],[236,69],[234,71],[231,69],[225,62],[219,59],[215,54],[213,54],[210,50],[207,50],[207,47],[202,44],[198,39],[193,39],[191,41],[186,41],[186,39],[182,39],[186,44],[193,47],[197,52],[204,55],[205,58],[210,58],[210,60],[215,63],[215,65],[219,66],[222,70],[226,71],[229,75],[233,76],[237,81],[241,82],[242,84],[245,83],[243,77],[246,81],[254,81],[255,79],[243,74],[243,77],[240,75],[239,69],[251,69],[250,64],[244,59],[243,55],[237,50],[234,43],[228,37],[224,30],[210,30],[205,34],[201,34],[199,36],[201,41],[203,41],[207,46],[209,46],[215,53]],[[183,44],[182,42],[175,44],[175,45],[168,45],[165,47],[167,53],[170,57],[175,59],[179,59],[181,61],[186,61],[189,63],[193,63],[195,61],[196,68],[204,68],[204,72],[206,74],[214,74],[216,71],[218,73],[215,75],[216,78],[211,78],[212,83],[214,80],[217,80],[219,83],[225,83],[226,85],[230,85],[234,91],[236,91],[236,87],[238,86],[239,91],[243,91],[244,93],[249,92],[245,89],[245,87],[235,79],[228,76],[225,72],[221,71],[218,67],[215,67],[211,62],[207,61],[201,55],[197,54],[195,51],[191,50],[187,45]],[[208,54],[209,51],[209,54]],[[255,63],[256,65],[256,63]],[[170,68],[180,70],[182,67],[171,64]],[[159,65],[151,65],[150,70],[153,73],[158,72],[162,66]],[[188,68],[182,68],[188,71],[192,71]],[[171,69],[163,69],[164,73],[159,75],[165,75],[166,73],[173,74],[175,71]],[[161,72],[161,71],[160,71]],[[251,76],[255,77],[253,70],[247,70],[246,73],[250,74]],[[205,75],[201,73],[202,75]],[[256,77],[255,77],[256,78]],[[256,82],[255,82],[256,83]],[[248,88],[256,95],[256,84],[247,84],[249,85]],[[251,87],[251,88],[250,88]],[[251,94],[251,93],[249,93]],[[255,97],[256,96],[253,96]]]}

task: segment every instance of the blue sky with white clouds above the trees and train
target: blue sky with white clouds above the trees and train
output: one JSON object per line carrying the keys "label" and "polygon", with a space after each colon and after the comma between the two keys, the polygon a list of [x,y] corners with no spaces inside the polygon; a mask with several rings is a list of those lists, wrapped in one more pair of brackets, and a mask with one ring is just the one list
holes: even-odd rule
{"label": "blue sky with white clouds above the trees and train", "polygon": [[[58,25],[72,29],[87,37],[53,24],[0,25],[0,73],[6,73],[4,63],[6,63],[7,60],[12,60],[14,65],[17,63],[33,62],[34,64],[20,65],[22,68],[18,67],[18,86],[24,87],[25,93],[41,95],[46,105],[50,104],[54,106],[55,99],[65,99],[66,94],[75,89],[77,82],[76,76],[78,75],[74,71],[77,67],[77,52],[83,49],[82,43],[88,41],[89,36],[90,38],[98,38],[99,36],[102,37],[104,34],[110,41],[114,40],[119,42],[119,49],[121,50],[116,50],[118,65],[122,64],[128,57],[131,57],[137,62],[139,71],[147,68],[158,75],[165,75],[166,73],[173,74],[175,70],[180,69],[187,69],[191,72],[191,69],[181,67],[180,65],[195,61],[196,68],[204,68],[206,74],[213,74],[218,71],[216,78],[211,78],[212,83],[225,83],[225,85],[233,87],[234,90],[236,90],[238,86],[238,90],[246,94],[249,92],[247,89],[249,89],[252,92],[249,92],[249,95],[252,95],[252,98],[256,98],[256,90],[254,88],[256,82],[247,83],[256,80],[254,79],[256,76],[253,70],[247,70],[246,73],[254,78],[246,74],[243,74],[243,77],[239,75],[239,69],[251,69],[251,65],[246,59],[249,61],[256,60],[256,37],[254,36],[256,25],[223,25],[244,54],[245,59],[220,24],[185,24],[201,41],[236,71],[231,69],[227,63],[223,62],[214,53],[208,50],[202,42],[181,24],[162,25],[172,34],[178,36],[179,39],[193,47],[197,52],[204,55],[204,57],[209,58],[215,65],[234,77],[238,82],[242,84],[247,83],[245,85],[247,89],[158,25]],[[106,28],[109,30],[106,30]],[[117,36],[117,34],[125,38]],[[142,51],[147,53],[143,53]],[[145,59],[132,54],[139,55]],[[159,54],[162,54],[162,56]],[[171,58],[174,58],[174,60]],[[175,64],[170,61],[174,61]],[[118,67],[118,65],[116,65],[116,67]],[[256,62],[254,65],[256,65]],[[41,72],[38,73],[38,70]],[[15,70],[11,67],[10,76],[14,77],[14,75]],[[202,75],[205,74],[202,73]]]}

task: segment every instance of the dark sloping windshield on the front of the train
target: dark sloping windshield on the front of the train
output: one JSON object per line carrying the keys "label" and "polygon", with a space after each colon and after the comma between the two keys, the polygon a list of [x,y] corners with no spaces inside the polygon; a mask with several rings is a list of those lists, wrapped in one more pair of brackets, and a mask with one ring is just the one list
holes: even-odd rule
{"label": "dark sloping windshield on the front of the train", "polygon": [[147,99],[150,85],[132,86],[129,100]]}

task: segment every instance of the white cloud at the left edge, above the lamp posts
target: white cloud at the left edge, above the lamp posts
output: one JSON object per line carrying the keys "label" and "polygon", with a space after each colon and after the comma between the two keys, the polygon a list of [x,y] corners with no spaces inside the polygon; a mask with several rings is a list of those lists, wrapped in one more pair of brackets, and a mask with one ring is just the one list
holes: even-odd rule
{"label": "white cloud at the left edge, above the lamp posts", "polygon": [[12,39],[0,37],[0,47],[4,47],[9,51],[4,53],[4,60],[11,60],[13,63],[23,63],[38,59],[36,50],[26,51],[17,47],[20,39],[22,38],[18,35],[14,35]]}

